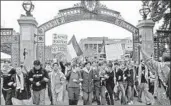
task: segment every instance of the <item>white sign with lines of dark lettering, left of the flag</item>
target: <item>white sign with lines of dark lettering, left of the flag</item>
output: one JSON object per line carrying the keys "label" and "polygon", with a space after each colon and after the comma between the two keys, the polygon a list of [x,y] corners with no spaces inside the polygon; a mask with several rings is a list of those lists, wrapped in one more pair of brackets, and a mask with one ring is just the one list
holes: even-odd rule
{"label": "white sign with lines of dark lettering, left of the flag", "polygon": [[52,40],[52,54],[57,54],[59,52],[67,52],[67,35],[54,34]]}

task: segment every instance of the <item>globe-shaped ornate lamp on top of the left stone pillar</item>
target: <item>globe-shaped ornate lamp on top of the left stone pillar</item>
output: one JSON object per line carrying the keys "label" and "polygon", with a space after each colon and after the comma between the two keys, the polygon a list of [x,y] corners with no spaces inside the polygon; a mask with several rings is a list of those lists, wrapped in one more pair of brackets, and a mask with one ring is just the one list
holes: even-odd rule
{"label": "globe-shaped ornate lamp on top of the left stone pillar", "polygon": [[24,1],[22,6],[23,6],[23,9],[26,11],[26,15],[32,16],[31,12],[34,10],[34,5],[32,4],[31,0]]}

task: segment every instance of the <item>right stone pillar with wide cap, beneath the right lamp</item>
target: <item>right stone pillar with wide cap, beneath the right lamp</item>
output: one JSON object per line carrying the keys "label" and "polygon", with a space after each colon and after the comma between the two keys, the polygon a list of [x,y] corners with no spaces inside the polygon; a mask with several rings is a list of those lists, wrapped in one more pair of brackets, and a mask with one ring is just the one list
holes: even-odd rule
{"label": "right stone pillar with wide cap, beneath the right lamp", "polygon": [[154,54],[154,24],[155,23],[152,20],[141,20],[137,25],[137,28],[139,28],[139,35],[141,35],[142,39],[142,48],[149,56]]}

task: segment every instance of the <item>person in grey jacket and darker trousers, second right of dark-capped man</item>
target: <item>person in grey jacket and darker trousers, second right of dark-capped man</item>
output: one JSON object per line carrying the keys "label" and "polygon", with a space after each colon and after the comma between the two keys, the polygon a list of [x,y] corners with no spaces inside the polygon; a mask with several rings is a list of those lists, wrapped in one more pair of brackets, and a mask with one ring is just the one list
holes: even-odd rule
{"label": "person in grey jacket and darker trousers, second right of dark-capped man", "polygon": [[82,78],[76,64],[72,65],[72,69],[67,73],[66,79],[68,80],[67,90],[69,105],[77,105],[80,94],[80,82],[82,81]]}

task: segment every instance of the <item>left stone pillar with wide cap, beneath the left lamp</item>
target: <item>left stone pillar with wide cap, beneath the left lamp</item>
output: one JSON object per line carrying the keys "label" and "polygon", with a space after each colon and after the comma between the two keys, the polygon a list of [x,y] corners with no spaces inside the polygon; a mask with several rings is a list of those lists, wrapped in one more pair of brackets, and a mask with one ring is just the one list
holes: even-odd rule
{"label": "left stone pillar with wide cap, beneath the left lamp", "polygon": [[[20,61],[30,70],[33,67],[33,61],[36,59],[37,21],[31,16],[21,16],[18,19],[20,25]],[[26,56],[24,59],[24,49]]]}

